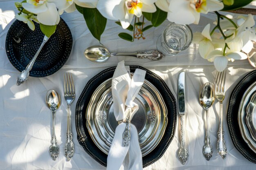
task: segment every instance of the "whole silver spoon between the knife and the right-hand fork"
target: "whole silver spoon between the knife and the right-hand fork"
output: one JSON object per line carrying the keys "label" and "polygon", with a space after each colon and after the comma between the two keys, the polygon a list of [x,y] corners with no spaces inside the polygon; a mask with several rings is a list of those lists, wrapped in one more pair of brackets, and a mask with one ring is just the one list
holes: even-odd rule
{"label": "whole silver spoon between the knife and the right-hand fork", "polygon": [[205,83],[204,86],[202,86],[200,90],[199,95],[199,102],[201,106],[206,111],[206,133],[205,133],[205,139],[204,139],[204,146],[203,146],[203,154],[204,157],[207,159],[207,161],[210,160],[213,154],[213,149],[211,146],[211,140],[209,135],[209,115],[208,115],[208,109],[213,105],[215,100],[215,92],[213,90],[213,84],[211,83]]}

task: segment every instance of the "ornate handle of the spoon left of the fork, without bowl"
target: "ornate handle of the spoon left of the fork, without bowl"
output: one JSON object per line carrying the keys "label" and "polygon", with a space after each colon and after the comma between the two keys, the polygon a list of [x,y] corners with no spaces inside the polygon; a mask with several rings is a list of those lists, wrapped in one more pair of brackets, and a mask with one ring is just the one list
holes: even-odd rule
{"label": "ornate handle of the spoon left of the fork, without bowl", "polygon": [[57,145],[56,136],[55,136],[55,111],[52,112],[52,145],[49,148],[50,155],[54,161],[56,161],[60,148]]}

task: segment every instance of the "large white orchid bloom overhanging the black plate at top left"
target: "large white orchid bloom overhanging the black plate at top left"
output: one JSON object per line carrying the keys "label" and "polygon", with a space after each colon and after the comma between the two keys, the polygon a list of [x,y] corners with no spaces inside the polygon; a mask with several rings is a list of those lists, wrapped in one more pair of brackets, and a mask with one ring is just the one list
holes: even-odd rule
{"label": "large white orchid bloom overhanging the black plate at top left", "polygon": [[37,20],[44,25],[56,25],[60,22],[60,15],[54,4],[55,0],[27,0],[22,7],[37,15]]}

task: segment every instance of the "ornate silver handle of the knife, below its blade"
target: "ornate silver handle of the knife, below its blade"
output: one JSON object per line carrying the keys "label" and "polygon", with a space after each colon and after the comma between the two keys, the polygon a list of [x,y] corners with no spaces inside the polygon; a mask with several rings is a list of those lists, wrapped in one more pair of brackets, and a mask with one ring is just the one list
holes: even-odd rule
{"label": "ornate silver handle of the knife, below its blade", "polygon": [[185,136],[184,125],[185,125],[184,116],[180,116],[181,148],[179,150],[178,156],[182,165],[184,165],[189,158],[189,150],[186,148],[186,136]]}

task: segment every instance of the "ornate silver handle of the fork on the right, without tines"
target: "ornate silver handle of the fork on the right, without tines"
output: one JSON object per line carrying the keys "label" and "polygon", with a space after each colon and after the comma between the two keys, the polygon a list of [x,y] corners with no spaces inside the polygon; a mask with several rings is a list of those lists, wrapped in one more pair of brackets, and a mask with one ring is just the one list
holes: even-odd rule
{"label": "ornate silver handle of the fork on the right, without tines", "polygon": [[223,123],[222,123],[222,111],[223,111],[223,105],[222,102],[220,102],[220,126],[218,131],[218,142],[217,142],[217,150],[222,157],[222,159],[226,158],[227,155],[227,147],[224,140],[224,130],[223,130]]}

